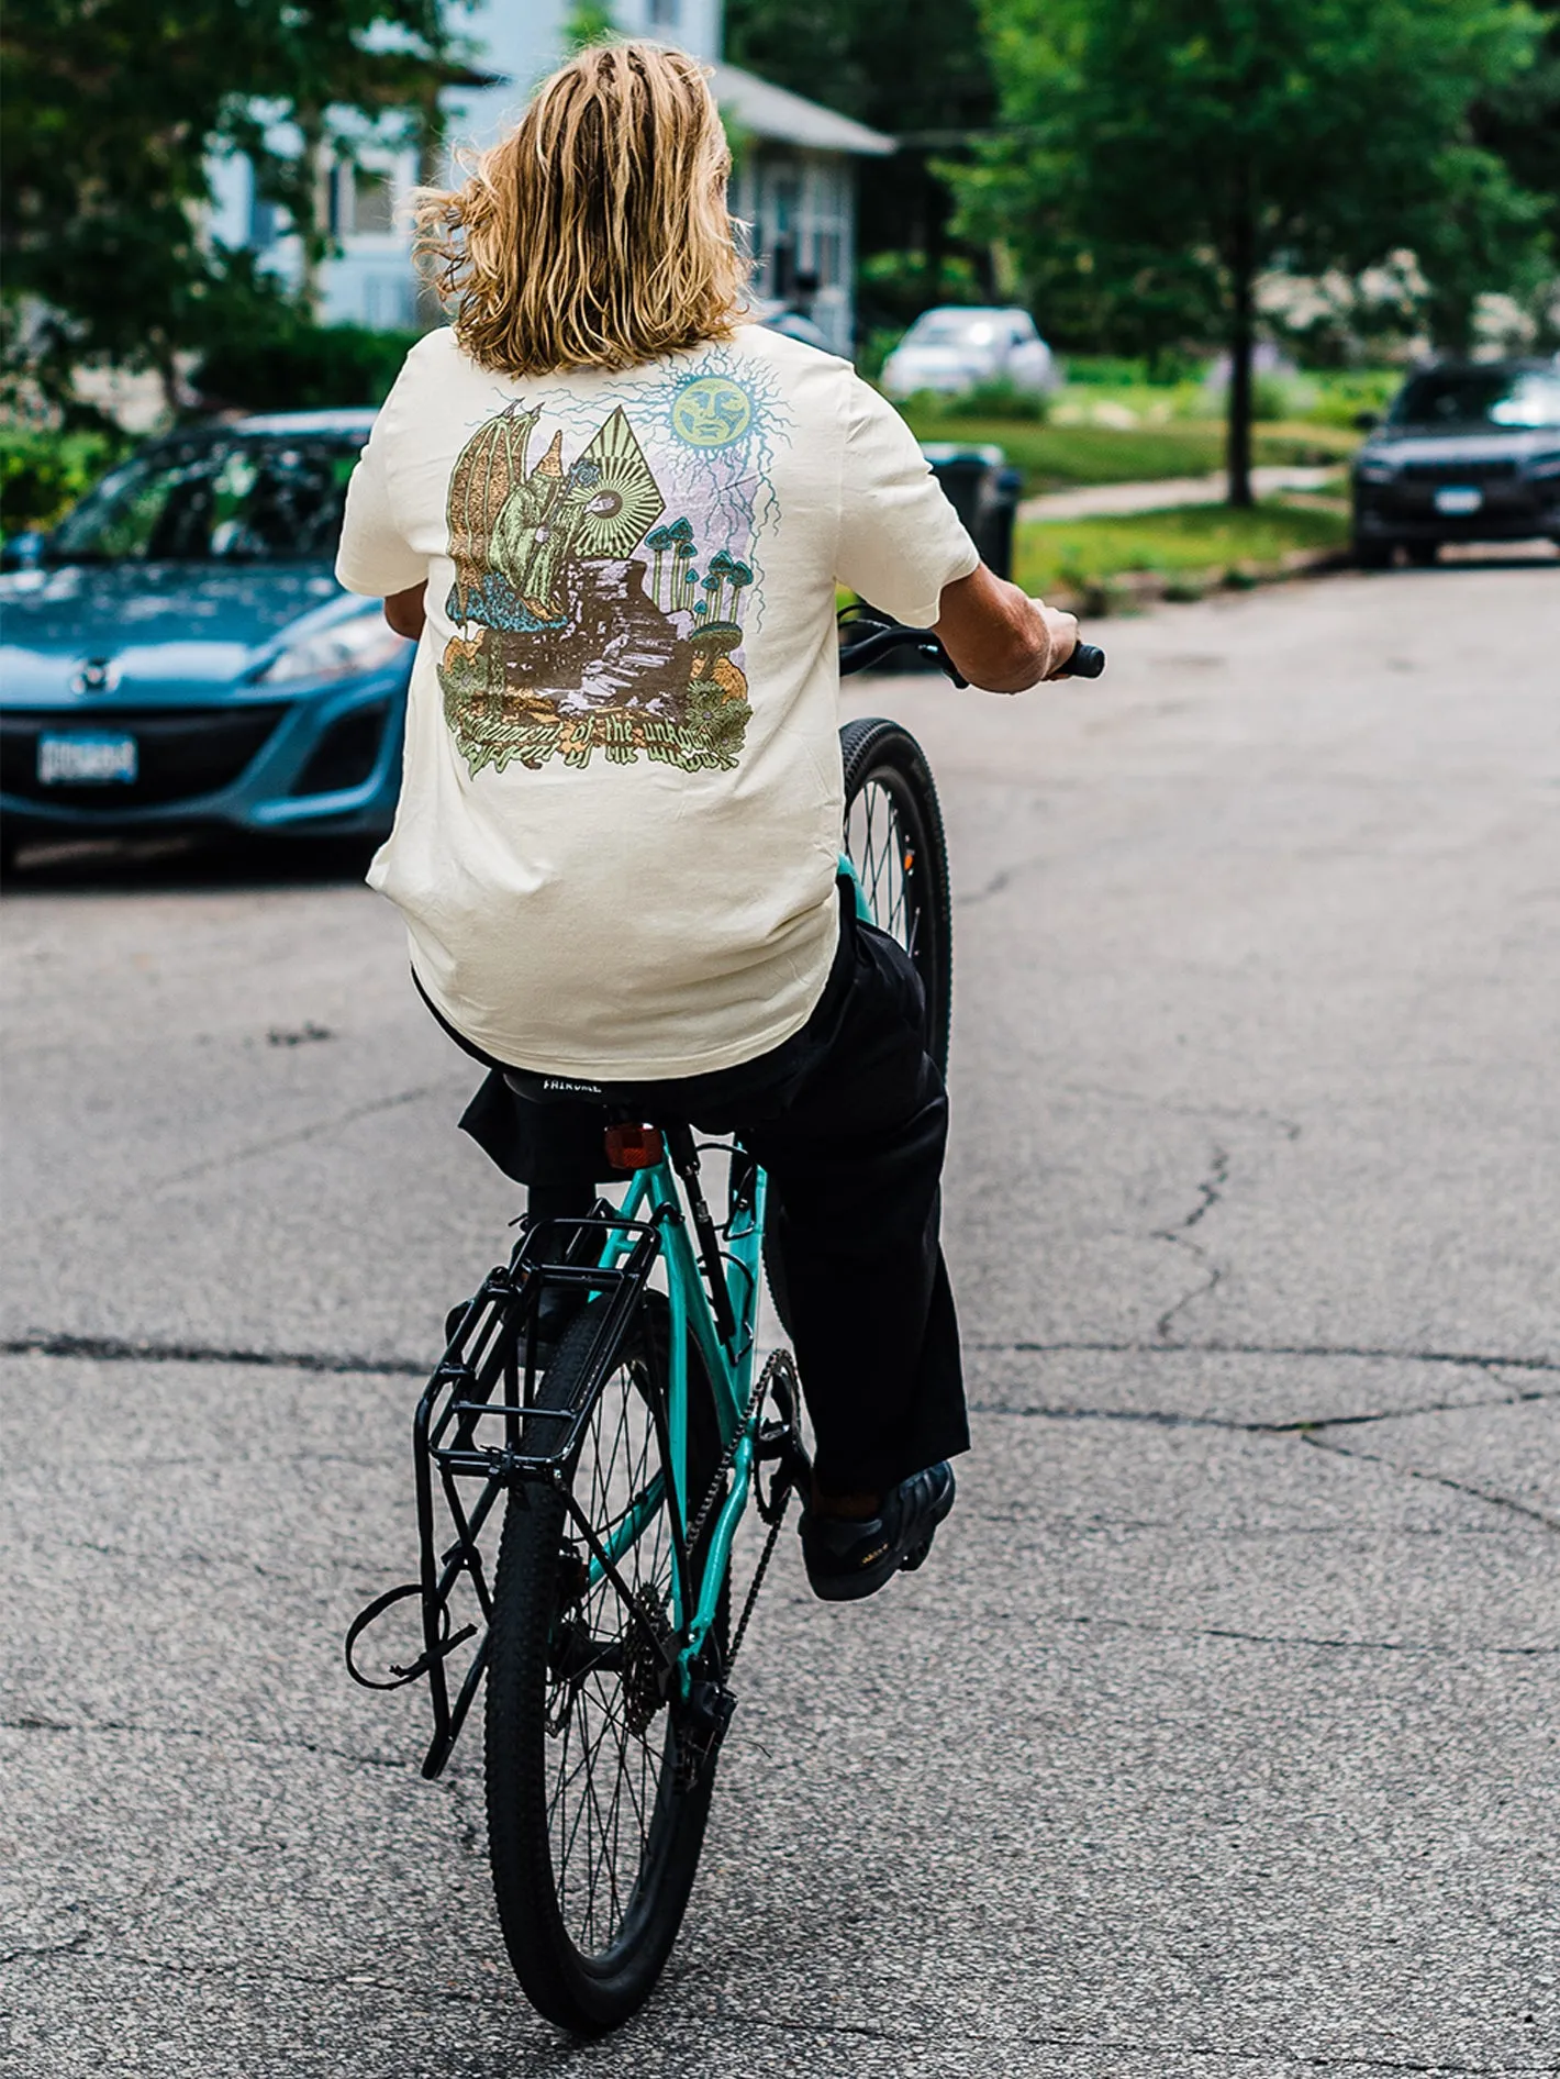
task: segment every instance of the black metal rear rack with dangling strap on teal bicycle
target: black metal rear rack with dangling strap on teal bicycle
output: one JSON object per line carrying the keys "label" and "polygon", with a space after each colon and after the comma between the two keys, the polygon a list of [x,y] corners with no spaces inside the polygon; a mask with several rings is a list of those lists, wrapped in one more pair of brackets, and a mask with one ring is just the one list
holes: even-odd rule
{"label": "black metal rear rack with dangling strap on teal bicycle", "polygon": [[[650,1220],[627,1220],[604,1200],[584,1216],[523,1220],[513,1256],[492,1268],[472,1299],[447,1322],[449,1343],[411,1418],[411,1464],[418,1495],[418,1580],[376,1597],[347,1632],[347,1672],[364,1688],[405,1688],[428,1678],[434,1736],[422,1773],[438,1775],[459,1738],[488,1659],[492,1590],[482,1557],[482,1530],[499,1495],[517,1480],[563,1484],[602,1383],[611,1376],[625,1328],[634,1320],[656,1258],[667,1208]],[[573,1293],[607,1299],[567,1407],[536,1405],[538,1328],[546,1297]],[[550,1351],[548,1351],[550,1353]],[[501,1428],[496,1428],[501,1424]],[[480,1480],[467,1507],[461,1482]],[[440,1551],[436,1532],[442,1497],[455,1543]],[[455,1628],[453,1599],[469,1580],[476,1617]],[[422,1603],[422,1653],[388,1678],[364,1674],[357,1642],[393,1605]],[[451,1655],[476,1640],[451,1696]]]}

